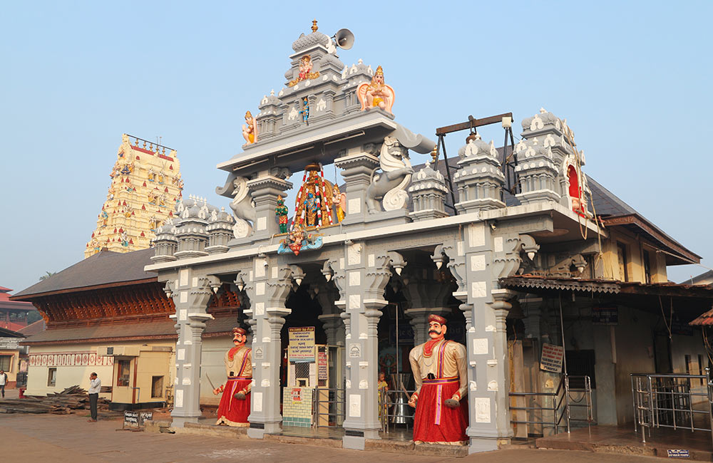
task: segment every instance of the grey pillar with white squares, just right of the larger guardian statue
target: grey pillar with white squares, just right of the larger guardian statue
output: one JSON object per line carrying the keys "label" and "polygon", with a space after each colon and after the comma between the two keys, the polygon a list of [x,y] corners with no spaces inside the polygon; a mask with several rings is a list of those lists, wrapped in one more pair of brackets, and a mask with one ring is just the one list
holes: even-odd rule
{"label": "grey pillar with white squares, just right of the larger guardian statue", "polygon": [[508,417],[505,328],[510,308],[507,301],[513,295],[498,288],[497,281],[518,269],[518,246],[517,234],[493,236],[491,227],[479,222],[463,229],[462,241],[442,248],[449,258],[448,269],[458,282],[453,296],[463,301],[460,308],[466,316],[470,420],[466,433],[471,453],[497,449],[498,441],[513,436]]}

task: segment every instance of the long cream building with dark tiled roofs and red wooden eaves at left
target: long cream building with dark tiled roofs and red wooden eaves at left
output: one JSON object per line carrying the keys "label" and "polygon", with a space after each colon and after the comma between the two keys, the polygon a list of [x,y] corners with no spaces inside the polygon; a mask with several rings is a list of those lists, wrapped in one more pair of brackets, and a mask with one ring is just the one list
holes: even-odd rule
{"label": "long cream building with dark tiled roofs and red wooden eaves at left", "polygon": [[[29,394],[86,388],[88,374],[96,371],[117,410],[170,403],[175,307],[155,274],[143,270],[153,254],[102,250],[13,296],[33,303],[47,325],[22,343],[29,346]],[[242,313],[229,286],[212,296],[213,318],[205,323],[204,338],[212,340],[203,342],[221,349]],[[206,365],[220,360],[204,358]]]}

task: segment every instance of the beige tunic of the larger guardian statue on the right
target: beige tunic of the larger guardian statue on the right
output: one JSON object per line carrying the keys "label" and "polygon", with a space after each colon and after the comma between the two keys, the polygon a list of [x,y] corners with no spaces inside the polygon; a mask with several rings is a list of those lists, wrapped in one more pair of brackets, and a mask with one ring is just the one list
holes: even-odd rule
{"label": "beige tunic of the larger guardian statue on the right", "polygon": [[424,347],[428,342],[421,345],[416,345],[411,349],[409,354],[409,363],[411,363],[411,371],[414,373],[416,380],[416,393],[421,392],[421,385],[424,380],[429,377],[429,373],[433,373],[433,377],[438,378],[458,378],[458,393],[461,398],[466,396],[468,390],[468,378],[466,377],[466,346],[463,344],[449,341],[446,345],[446,351],[443,355],[443,375],[438,376],[438,350],[441,349],[441,344],[445,343],[445,339],[439,340],[434,344],[431,355],[424,354]]}

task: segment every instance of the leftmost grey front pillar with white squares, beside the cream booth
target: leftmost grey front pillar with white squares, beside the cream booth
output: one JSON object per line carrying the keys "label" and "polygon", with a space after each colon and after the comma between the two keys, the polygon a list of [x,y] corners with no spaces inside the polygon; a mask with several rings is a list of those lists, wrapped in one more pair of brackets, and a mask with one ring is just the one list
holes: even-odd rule
{"label": "leftmost grey front pillar with white squares, beside the cream booth", "polygon": [[217,277],[195,274],[190,269],[181,269],[178,280],[167,283],[176,309],[171,318],[176,322],[178,333],[171,413],[174,427],[183,427],[185,422],[198,422],[200,417],[201,335],[205,321],[212,318],[205,309],[213,294],[213,286],[220,286]]}

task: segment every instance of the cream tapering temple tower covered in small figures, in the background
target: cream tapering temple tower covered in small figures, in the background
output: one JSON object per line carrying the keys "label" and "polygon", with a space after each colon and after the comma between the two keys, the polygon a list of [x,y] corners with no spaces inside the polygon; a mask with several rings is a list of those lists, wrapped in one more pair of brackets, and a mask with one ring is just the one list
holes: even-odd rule
{"label": "cream tapering temple tower covered in small figures, in the background", "polygon": [[151,246],[156,230],[173,217],[183,180],[175,150],[123,134],[111,184],[84,257],[107,248],[128,252]]}

